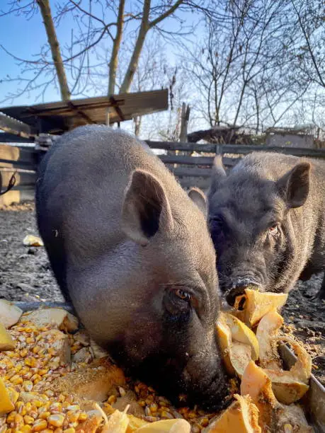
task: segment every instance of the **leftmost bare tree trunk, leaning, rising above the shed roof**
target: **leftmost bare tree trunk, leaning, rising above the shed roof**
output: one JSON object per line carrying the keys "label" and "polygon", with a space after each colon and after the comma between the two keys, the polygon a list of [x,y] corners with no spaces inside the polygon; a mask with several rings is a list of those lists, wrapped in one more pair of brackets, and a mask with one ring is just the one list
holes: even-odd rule
{"label": "leftmost bare tree trunk, leaning, rising above the shed roof", "polygon": [[59,90],[61,92],[62,100],[69,100],[71,93],[67,82],[67,76],[64,71],[64,65],[62,62],[61,52],[59,49],[59,42],[57,40],[57,34],[55,33],[55,26],[51,14],[50,1],[49,0],[37,0],[38,6],[40,6],[40,13],[42,13],[43,22],[47,34],[47,41],[49,42],[52,59],[55,63],[55,69],[57,71],[57,79],[59,81]]}

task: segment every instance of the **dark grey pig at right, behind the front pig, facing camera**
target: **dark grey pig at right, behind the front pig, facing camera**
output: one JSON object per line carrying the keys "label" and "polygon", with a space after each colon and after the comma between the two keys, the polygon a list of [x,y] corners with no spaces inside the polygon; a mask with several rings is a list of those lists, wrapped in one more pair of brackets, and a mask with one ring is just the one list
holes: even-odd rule
{"label": "dark grey pig at right, behind the front pig, facing camera", "polygon": [[217,157],[208,202],[229,304],[248,284],[287,292],[297,279],[325,270],[325,163],[253,152],[227,176]]}

